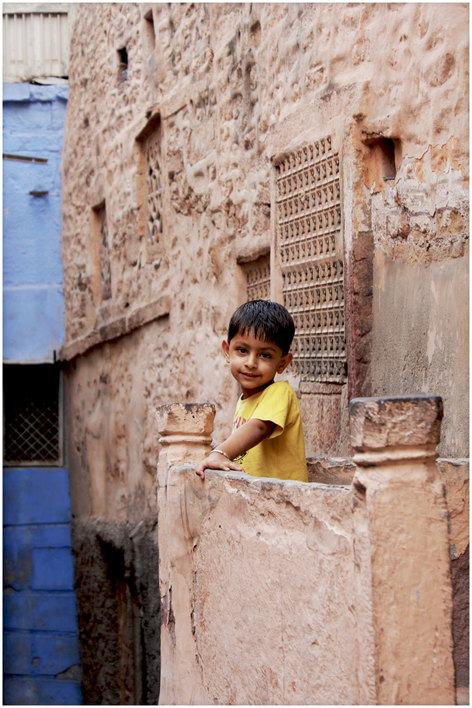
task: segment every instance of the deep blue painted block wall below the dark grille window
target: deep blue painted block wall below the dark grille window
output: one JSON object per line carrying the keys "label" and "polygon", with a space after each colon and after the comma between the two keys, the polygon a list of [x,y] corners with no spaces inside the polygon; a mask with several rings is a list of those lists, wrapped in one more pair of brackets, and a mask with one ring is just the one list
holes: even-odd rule
{"label": "deep blue painted block wall below the dark grille window", "polygon": [[3,505],[4,704],[79,705],[67,470],[6,468]]}

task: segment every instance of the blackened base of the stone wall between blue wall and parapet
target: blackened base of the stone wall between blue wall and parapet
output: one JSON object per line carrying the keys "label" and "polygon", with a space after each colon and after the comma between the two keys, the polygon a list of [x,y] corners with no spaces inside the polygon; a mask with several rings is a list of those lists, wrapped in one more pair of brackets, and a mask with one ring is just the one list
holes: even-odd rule
{"label": "blackened base of the stone wall between blue wall and parapet", "polygon": [[157,523],[74,525],[83,702],[156,705],[160,678]]}

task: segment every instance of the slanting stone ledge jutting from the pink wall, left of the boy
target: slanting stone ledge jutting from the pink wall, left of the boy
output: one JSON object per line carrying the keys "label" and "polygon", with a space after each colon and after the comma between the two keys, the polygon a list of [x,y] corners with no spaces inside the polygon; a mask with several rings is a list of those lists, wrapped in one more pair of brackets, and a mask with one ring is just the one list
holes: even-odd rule
{"label": "slanting stone ledge jutting from the pink wall, left of the boy", "polygon": [[143,307],[138,307],[129,315],[122,315],[110,322],[92,330],[84,337],[64,344],[58,353],[60,361],[71,361],[76,356],[85,354],[89,349],[110,342],[113,339],[124,337],[134,330],[149,324],[154,320],[166,317],[170,312],[170,296],[164,295],[154,302]]}

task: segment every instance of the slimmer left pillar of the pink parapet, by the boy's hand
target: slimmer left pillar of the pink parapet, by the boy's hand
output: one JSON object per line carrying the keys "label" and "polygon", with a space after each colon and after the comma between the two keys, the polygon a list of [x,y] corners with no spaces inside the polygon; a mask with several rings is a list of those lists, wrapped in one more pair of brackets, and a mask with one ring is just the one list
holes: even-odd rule
{"label": "slimmer left pillar of the pink parapet, by the boy's hand", "polygon": [[[182,499],[186,498],[185,464],[197,465],[210,451],[215,407],[209,403],[170,403],[157,409],[159,439],[158,537],[159,591],[161,595],[161,685],[159,703],[201,704],[201,680],[196,663],[192,628],[193,541],[199,535],[201,511],[186,507],[182,524]],[[180,467],[179,467],[180,465]],[[193,479],[193,477],[195,479]],[[188,484],[201,488],[195,473]]]}

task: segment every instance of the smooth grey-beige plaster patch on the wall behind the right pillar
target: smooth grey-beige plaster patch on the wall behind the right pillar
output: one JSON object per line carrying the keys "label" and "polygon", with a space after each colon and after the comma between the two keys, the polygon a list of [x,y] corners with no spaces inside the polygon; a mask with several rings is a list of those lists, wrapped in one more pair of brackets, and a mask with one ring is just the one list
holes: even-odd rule
{"label": "smooth grey-beige plaster patch on the wall behind the right pillar", "polygon": [[467,454],[468,260],[426,266],[379,250],[374,259],[372,380],[378,395],[434,391],[442,396],[441,452]]}

